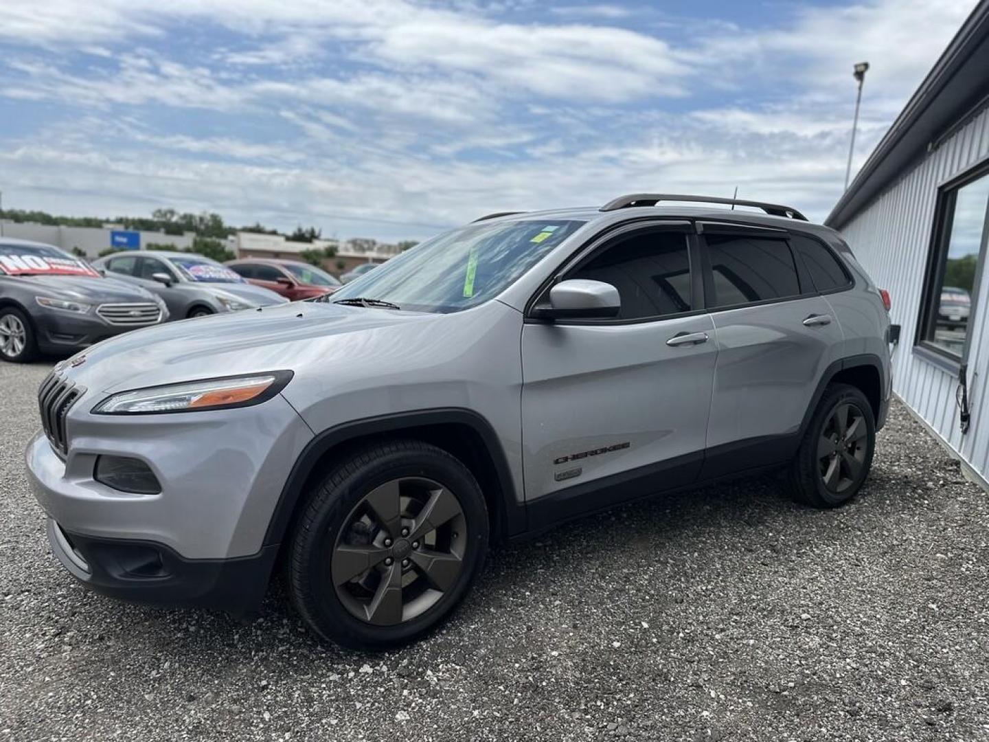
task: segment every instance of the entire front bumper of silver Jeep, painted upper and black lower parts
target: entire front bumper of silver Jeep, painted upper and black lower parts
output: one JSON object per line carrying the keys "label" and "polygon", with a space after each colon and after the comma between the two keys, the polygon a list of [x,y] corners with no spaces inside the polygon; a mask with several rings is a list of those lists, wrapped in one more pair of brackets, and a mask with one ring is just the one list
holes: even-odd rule
{"label": "entire front bumper of silver Jeep, painted upper and black lower parts", "polygon": [[[98,416],[88,393],[65,418],[64,458],[44,432],[25,452],[55,556],[77,580],[141,603],[256,608],[279,544],[264,537],[292,466],[313,433],[281,396],[185,415]],[[145,462],[148,495],[98,482],[100,455]]]}

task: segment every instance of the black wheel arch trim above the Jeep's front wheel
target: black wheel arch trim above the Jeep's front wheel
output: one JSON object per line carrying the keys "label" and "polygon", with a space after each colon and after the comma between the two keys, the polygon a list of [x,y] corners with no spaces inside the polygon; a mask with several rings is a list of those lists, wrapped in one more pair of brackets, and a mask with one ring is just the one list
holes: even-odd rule
{"label": "black wheel arch trim above the Jeep's front wheel", "polygon": [[[501,534],[511,536],[524,531],[526,528],[525,507],[519,504],[515,495],[515,487],[512,484],[511,471],[504,451],[498,441],[497,434],[491,423],[471,410],[462,408],[441,408],[436,410],[420,410],[396,415],[381,417],[367,417],[352,422],[331,427],[318,433],[309,442],[302,454],[296,460],[289,474],[289,478],[282,488],[278,505],[272,514],[271,522],[265,533],[264,545],[281,543],[286,535],[286,531],[300,499],[304,495],[304,488],[310,475],[318,466],[322,457],[332,448],[346,444],[348,441],[362,438],[367,435],[380,435],[385,433],[401,433],[403,430],[421,428],[430,425],[442,424],[462,424],[471,427],[485,443],[485,448],[492,463],[497,477],[497,484],[501,493],[501,503],[503,510],[500,513],[492,513],[501,523]],[[482,487],[484,482],[481,483]],[[500,517],[498,517],[500,515]]]}

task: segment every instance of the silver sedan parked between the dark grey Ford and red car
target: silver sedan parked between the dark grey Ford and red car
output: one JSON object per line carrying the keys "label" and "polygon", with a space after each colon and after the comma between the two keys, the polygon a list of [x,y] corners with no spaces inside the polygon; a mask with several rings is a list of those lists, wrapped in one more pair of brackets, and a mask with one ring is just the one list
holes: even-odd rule
{"label": "silver sedan parked between the dark grey Ford and red car", "polygon": [[129,250],[101,257],[93,265],[157,294],[173,320],[288,301],[273,291],[251,286],[223,263],[191,252]]}

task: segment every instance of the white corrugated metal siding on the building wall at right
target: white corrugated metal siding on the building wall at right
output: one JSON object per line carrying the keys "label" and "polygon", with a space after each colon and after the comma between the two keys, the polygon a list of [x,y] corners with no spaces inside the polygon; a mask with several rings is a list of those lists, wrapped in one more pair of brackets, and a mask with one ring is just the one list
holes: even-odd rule
{"label": "white corrugated metal siding on the building wall at right", "polygon": [[924,271],[934,229],[938,186],[989,157],[989,109],[972,119],[867,208],[842,233],[855,257],[893,298],[892,320],[903,326],[893,358],[893,389],[983,478],[989,478],[989,414],[980,415],[989,381],[989,269],[969,320],[971,428],[958,429],[957,380],[913,353]]}

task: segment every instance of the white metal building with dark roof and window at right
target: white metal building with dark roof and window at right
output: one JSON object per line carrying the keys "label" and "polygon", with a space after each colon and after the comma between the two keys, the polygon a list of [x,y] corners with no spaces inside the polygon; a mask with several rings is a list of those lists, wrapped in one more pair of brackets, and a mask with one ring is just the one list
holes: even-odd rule
{"label": "white metal building with dark roof and window at right", "polygon": [[892,320],[901,325],[894,391],[985,484],[989,0],[976,6],[826,224],[892,296]]}

